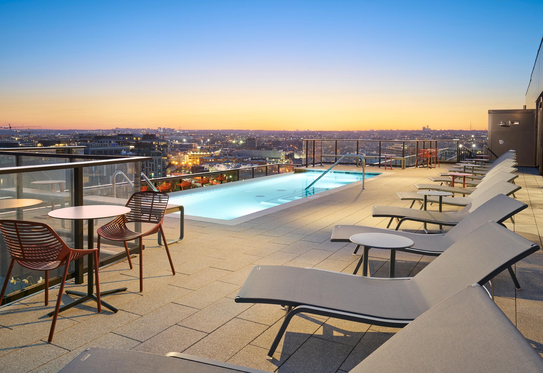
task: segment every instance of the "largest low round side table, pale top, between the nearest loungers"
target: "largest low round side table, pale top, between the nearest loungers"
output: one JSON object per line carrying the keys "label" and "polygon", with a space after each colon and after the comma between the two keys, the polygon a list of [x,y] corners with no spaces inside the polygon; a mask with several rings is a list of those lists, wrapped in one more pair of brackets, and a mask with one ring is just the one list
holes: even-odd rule
{"label": "largest low round side table, pale top, between the nearest loungers", "polygon": [[390,250],[390,277],[394,277],[394,269],[396,266],[396,250],[406,249],[413,246],[415,243],[403,236],[392,235],[390,233],[358,233],[352,235],[350,238],[352,243],[356,243],[356,249],[354,254],[358,251],[360,246],[363,246],[364,250],[362,256],[356,265],[355,271],[352,273],[356,275],[360,265],[363,263],[362,275],[368,276],[368,254],[370,248],[374,249],[388,249]]}

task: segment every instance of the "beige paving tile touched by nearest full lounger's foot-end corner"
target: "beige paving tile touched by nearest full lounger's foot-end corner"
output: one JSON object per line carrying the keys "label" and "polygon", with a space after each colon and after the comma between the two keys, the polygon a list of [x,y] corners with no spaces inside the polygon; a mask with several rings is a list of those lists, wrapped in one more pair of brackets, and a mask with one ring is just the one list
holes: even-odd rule
{"label": "beige paving tile touched by nearest full lounger's foot-end corner", "polygon": [[251,306],[252,304],[250,303],[236,303],[231,298],[223,298],[193,313],[178,324],[205,333],[211,333]]}

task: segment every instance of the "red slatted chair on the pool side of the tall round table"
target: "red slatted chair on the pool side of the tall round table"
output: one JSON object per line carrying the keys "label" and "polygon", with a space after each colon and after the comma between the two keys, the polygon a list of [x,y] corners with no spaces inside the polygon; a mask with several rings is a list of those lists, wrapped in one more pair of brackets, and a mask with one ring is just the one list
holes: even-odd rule
{"label": "red slatted chair on the pool side of the tall round table", "polygon": [[[166,236],[162,228],[162,222],[164,220],[164,213],[166,212],[166,206],[168,205],[169,196],[166,193],[161,192],[136,192],[131,195],[126,206],[130,207],[131,211],[127,214],[118,216],[112,222],[103,225],[98,228],[98,242],[97,247],[100,249],[100,237],[109,239],[111,241],[122,241],[124,243],[124,249],[127,252],[128,263],[130,269],[132,269],[132,261],[130,260],[130,254],[128,252],[128,241],[134,239],[140,240],[140,292],[143,292],[143,237],[153,235],[160,231],[162,239],[164,240],[164,246],[166,248],[166,254],[168,254],[168,260],[172,267],[172,273],[175,275],[175,269],[173,268],[172,256],[169,253],[168,243],[166,242]],[[137,233],[131,231],[128,223],[151,223],[155,224],[151,230],[144,233]]]}

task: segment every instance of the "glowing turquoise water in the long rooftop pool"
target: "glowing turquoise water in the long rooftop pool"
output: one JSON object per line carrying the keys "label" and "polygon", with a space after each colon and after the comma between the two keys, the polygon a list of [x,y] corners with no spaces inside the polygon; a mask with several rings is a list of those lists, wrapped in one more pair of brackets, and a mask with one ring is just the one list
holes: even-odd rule
{"label": "glowing turquoise water in the long rooftop pool", "polygon": [[[183,205],[186,215],[231,220],[362,180],[361,172],[331,171],[305,190],[321,173],[311,170],[247,183],[232,182],[219,188],[204,187],[198,192],[170,197],[169,202]],[[365,178],[376,175],[380,173],[367,172]]]}

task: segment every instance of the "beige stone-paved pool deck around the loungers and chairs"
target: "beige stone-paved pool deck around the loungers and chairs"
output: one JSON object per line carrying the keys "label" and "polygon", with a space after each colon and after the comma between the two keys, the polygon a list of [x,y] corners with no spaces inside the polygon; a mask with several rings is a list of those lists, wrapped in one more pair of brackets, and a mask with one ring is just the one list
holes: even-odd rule
{"label": "beige stone-paved pool deck around the loungers and chairs", "polygon": [[[55,306],[57,288],[50,290],[47,307],[40,293],[0,309],[0,371],[56,372],[87,347],[186,352],[268,371],[349,371],[397,330],[302,314],[293,318],[274,359],[268,360],[285,311],[275,305],[237,304],[233,298],[255,264],[352,273],[358,260],[352,256],[354,245],[331,243],[332,227],[386,227],[388,219],[371,217],[371,206],[408,206],[396,192],[411,192],[415,182],[427,182],[443,169],[380,169],[384,176],[369,179],[364,191],[344,188],[233,226],[186,220],[185,238],[170,247],[175,276],[155,237],[144,242],[143,293],[138,292],[137,258],[132,270],[126,261],[100,270],[103,291],[128,287],[104,297],[119,308],[117,313],[97,314],[92,302],[68,309],[59,316],[53,343],[47,344],[50,319],[40,317]],[[516,184],[522,189],[516,197],[529,207],[516,215],[516,224],[506,225],[541,245],[543,178],[535,168],[520,168],[519,175]],[[416,231],[421,224],[402,228]],[[167,217],[165,229],[174,239],[179,220]],[[370,250],[372,276],[388,276],[387,257],[388,251]],[[433,257],[399,252],[396,259],[396,276],[407,277]],[[543,355],[543,252],[517,263],[516,275],[522,290],[514,288],[507,272],[496,277],[495,301]],[[84,290],[86,285],[70,282],[67,288]],[[65,294],[62,301],[71,298]]]}

